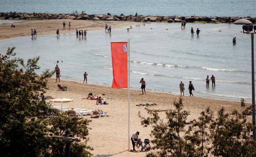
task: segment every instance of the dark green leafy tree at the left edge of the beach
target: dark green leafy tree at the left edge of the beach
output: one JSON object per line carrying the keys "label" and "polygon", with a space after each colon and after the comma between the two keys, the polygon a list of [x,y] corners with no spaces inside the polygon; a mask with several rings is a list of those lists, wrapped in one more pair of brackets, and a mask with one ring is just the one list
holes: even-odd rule
{"label": "dark green leafy tree at the left edge of the beach", "polygon": [[14,49],[8,48],[0,56],[0,157],[54,156],[56,141],[50,135],[64,129],[71,129],[73,136],[85,139],[71,147],[76,154],[89,157],[91,154],[86,150],[91,150],[86,146],[89,121],[71,117],[63,120],[64,115],[45,119],[52,110],[40,97],[46,92],[47,79],[53,72],[46,70],[37,75],[39,57],[25,63],[15,57]]}

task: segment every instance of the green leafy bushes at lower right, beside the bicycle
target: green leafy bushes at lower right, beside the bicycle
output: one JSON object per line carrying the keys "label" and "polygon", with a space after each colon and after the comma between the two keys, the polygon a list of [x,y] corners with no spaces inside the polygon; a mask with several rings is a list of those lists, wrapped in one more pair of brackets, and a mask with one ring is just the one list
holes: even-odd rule
{"label": "green leafy bushes at lower right, beside the bicycle", "polygon": [[[149,117],[142,119],[144,127],[152,126],[153,151],[147,157],[255,157],[256,143],[249,139],[251,124],[245,115],[218,111],[217,118],[209,108],[201,112],[197,122],[185,127],[187,111],[183,103],[174,102],[176,112],[166,112],[161,119],[157,112],[146,109]],[[245,106],[243,100],[241,106]]]}

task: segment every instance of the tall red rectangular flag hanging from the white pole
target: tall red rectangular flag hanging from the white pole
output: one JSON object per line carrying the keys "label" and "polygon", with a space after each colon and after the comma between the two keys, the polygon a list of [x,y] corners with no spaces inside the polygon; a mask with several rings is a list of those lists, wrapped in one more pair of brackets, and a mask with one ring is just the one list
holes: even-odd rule
{"label": "tall red rectangular flag hanging from the white pole", "polygon": [[127,42],[111,42],[112,88],[127,88]]}

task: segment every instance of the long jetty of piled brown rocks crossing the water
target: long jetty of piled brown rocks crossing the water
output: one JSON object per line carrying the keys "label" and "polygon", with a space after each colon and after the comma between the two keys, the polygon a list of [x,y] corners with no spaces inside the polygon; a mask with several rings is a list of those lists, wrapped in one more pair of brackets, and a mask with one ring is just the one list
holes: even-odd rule
{"label": "long jetty of piled brown rocks crossing the water", "polygon": [[72,19],[72,20],[107,20],[107,21],[133,21],[133,22],[186,22],[194,23],[225,23],[245,18],[255,23],[256,18],[251,17],[207,17],[207,16],[144,16],[144,15],[73,15],[70,13],[0,13],[0,20],[50,20],[50,19]]}

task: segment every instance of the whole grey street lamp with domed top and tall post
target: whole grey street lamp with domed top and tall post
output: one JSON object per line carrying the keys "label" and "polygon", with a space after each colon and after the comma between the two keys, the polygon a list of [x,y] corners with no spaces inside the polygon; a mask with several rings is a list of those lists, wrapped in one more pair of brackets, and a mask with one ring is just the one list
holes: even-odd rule
{"label": "whole grey street lamp with domed top and tall post", "polygon": [[[234,24],[242,24],[243,33],[251,34],[251,97],[252,97],[252,134],[256,141],[256,124],[255,124],[255,88],[254,88],[254,34],[256,34],[256,26],[246,19],[236,20]],[[252,31],[254,29],[254,32]]]}

